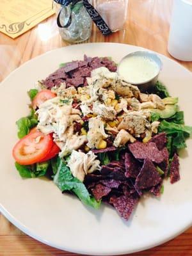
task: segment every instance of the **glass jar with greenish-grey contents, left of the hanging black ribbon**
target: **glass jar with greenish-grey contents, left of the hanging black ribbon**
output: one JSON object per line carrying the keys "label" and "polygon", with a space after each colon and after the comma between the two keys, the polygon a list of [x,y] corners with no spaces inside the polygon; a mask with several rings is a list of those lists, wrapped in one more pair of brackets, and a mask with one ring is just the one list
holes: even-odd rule
{"label": "glass jar with greenish-grey contents, left of the hanging black ribbon", "polygon": [[87,40],[92,33],[92,19],[83,6],[83,2],[61,6],[54,2],[56,15],[60,15],[61,26],[58,28],[61,38],[70,43],[79,43]]}

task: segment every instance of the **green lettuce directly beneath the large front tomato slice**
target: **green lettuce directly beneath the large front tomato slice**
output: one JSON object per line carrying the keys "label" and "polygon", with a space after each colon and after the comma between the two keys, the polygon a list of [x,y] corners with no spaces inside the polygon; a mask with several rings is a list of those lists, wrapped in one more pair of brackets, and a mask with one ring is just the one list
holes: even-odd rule
{"label": "green lettuce directly beneath the large front tomato slice", "polygon": [[49,161],[31,165],[21,165],[15,162],[15,167],[17,168],[22,178],[42,177],[47,172],[47,169],[49,167]]}

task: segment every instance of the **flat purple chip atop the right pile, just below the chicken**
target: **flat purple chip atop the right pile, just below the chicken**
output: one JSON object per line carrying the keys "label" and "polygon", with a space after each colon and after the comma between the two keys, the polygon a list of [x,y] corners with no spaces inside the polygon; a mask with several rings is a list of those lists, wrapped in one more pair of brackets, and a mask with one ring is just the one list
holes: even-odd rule
{"label": "flat purple chip atop the right pile, just below the chicken", "polygon": [[136,159],[150,159],[154,163],[161,163],[164,159],[161,151],[156,146],[154,142],[142,143],[136,141],[128,145],[129,150]]}

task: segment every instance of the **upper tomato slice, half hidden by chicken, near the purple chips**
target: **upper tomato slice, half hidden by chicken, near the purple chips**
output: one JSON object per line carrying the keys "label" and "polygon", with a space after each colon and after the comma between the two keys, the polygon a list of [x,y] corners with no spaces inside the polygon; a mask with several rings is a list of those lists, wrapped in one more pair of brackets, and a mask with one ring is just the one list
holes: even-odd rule
{"label": "upper tomato slice, half hidden by chicken, near the purple chips", "polygon": [[51,92],[51,90],[42,90],[38,92],[35,98],[32,101],[32,108],[36,109],[37,107],[44,103],[46,100],[56,97],[56,94]]}

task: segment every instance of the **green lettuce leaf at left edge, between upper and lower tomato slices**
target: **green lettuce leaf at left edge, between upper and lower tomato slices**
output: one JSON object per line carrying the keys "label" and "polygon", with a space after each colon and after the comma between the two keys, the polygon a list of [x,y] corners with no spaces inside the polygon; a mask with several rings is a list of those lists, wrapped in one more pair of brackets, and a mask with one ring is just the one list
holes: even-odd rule
{"label": "green lettuce leaf at left edge, between upper and lower tomato slices", "polygon": [[17,120],[16,124],[18,127],[17,136],[19,139],[26,136],[31,128],[35,127],[38,123],[37,116],[35,115],[35,111],[32,109],[31,114],[26,117],[22,117]]}

